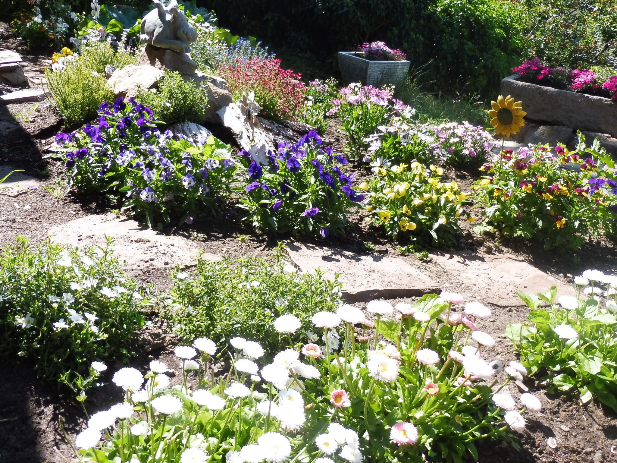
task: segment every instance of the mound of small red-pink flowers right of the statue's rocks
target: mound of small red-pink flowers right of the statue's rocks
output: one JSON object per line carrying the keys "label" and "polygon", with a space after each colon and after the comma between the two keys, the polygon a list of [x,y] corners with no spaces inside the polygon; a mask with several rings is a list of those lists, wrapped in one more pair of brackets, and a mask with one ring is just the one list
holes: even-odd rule
{"label": "mound of small red-pink flowers right of the statue's rocks", "polygon": [[294,119],[307,90],[299,73],[281,69],[280,59],[237,60],[233,66],[221,67],[218,73],[230,84],[234,98],[254,91],[261,113],[274,120]]}

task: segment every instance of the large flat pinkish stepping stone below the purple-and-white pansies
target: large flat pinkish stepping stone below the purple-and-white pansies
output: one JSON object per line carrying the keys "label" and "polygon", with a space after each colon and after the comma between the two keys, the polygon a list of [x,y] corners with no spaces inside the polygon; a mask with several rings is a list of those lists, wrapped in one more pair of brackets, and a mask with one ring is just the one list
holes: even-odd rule
{"label": "large flat pinkish stepping stone below the purple-and-white pansies", "polygon": [[[124,264],[126,273],[138,275],[144,270],[172,270],[176,265],[196,265],[199,243],[175,235],[164,235],[141,225],[136,220],[115,214],[89,215],[49,228],[52,241],[68,246],[104,246],[107,237],[114,238],[114,256]],[[222,261],[217,254],[202,254],[209,261]]]}

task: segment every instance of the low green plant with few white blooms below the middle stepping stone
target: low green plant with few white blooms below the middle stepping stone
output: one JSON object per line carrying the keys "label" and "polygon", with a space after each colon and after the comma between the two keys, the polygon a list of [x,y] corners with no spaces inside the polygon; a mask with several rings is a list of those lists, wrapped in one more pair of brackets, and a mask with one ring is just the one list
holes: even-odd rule
{"label": "low green plant with few white blooms below the middle stepping stone", "polygon": [[277,248],[271,259],[255,257],[212,262],[199,257],[194,275],[175,273],[167,318],[185,343],[206,336],[225,346],[234,336],[281,348],[272,324],[283,314],[296,315],[302,327],[318,311],[340,303],[341,284],[321,273],[298,273]]}

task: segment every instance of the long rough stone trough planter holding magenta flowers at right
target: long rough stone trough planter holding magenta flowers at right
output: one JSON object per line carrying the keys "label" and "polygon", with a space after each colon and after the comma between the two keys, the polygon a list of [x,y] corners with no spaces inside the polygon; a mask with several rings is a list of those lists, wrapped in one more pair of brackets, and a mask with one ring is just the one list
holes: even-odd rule
{"label": "long rough stone trough planter holding magenta flowers at right", "polygon": [[602,96],[576,93],[518,80],[502,80],[501,93],[523,102],[527,118],[573,130],[608,133],[617,138],[617,102]]}

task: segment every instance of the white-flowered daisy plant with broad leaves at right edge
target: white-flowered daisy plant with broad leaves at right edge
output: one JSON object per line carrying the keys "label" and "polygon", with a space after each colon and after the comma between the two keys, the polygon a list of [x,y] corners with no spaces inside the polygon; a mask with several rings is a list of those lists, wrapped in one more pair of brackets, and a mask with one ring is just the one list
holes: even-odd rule
{"label": "white-flowered daisy plant with broad leaves at right edge", "polygon": [[[578,391],[582,403],[597,398],[617,411],[617,277],[586,270],[576,277],[575,296],[518,295],[531,312],[508,325],[506,336],[551,393]],[[540,307],[548,304],[547,307]]]}

